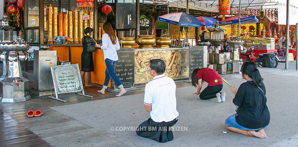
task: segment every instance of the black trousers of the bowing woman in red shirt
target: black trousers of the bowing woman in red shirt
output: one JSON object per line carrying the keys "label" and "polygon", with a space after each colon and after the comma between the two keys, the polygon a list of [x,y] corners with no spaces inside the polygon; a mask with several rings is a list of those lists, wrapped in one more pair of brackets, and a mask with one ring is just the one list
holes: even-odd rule
{"label": "black trousers of the bowing woman in red shirt", "polygon": [[216,94],[222,91],[222,85],[207,86],[200,94],[201,100],[216,98]]}

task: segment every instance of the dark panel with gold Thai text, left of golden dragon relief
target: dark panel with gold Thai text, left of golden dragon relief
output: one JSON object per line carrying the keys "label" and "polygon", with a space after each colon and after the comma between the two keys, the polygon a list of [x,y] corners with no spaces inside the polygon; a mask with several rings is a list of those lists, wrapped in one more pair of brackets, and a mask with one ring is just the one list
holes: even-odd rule
{"label": "dark panel with gold Thai text, left of golden dragon relief", "polygon": [[[115,64],[116,76],[122,82],[124,88],[131,88],[134,86],[134,61],[135,50],[133,48],[121,48],[117,51],[119,60]],[[117,88],[116,83],[113,84]]]}

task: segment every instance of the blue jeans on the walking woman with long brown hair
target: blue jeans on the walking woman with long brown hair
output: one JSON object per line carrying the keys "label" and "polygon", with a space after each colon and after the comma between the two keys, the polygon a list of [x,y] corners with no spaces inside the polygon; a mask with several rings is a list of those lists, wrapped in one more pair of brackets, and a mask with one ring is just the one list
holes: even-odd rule
{"label": "blue jeans on the walking woman with long brown hair", "polygon": [[104,79],[104,86],[103,86],[103,88],[106,88],[107,89],[107,85],[110,82],[110,78],[112,78],[115,81],[116,85],[119,88],[123,87],[120,79],[115,74],[114,65],[115,65],[116,61],[113,61],[113,60],[110,60],[110,59],[106,58],[104,60],[104,62],[106,63],[107,68],[106,68],[106,72],[105,72],[106,78]]}

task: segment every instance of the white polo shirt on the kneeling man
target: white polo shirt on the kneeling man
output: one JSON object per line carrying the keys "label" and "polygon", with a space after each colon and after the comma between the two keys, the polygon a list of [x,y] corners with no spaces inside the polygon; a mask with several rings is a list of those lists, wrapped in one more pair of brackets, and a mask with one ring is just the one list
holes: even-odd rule
{"label": "white polo shirt on the kneeling man", "polygon": [[170,122],[178,115],[176,110],[176,84],[166,75],[158,75],[145,87],[144,104],[152,105],[150,112],[154,122]]}

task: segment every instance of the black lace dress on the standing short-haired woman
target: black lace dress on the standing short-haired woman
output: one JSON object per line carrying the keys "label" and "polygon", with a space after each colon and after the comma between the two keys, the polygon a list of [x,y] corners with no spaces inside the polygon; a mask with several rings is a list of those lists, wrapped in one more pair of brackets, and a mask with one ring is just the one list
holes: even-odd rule
{"label": "black lace dress on the standing short-haired woman", "polygon": [[[82,62],[81,68],[82,68],[82,71],[85,71],[85,72],[94,71],[93,53],[87,51],[88,40],[90,40],[94,46],[95,46],[95,41],[96,41],[96,40],[91,39],[90,36],[84,36],[82,38],[83,52],[81,55],[81,62]],[[100,41],[96,41],[96,43],[99,44]]]}

